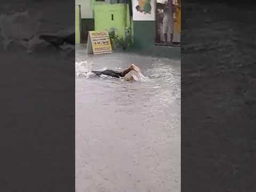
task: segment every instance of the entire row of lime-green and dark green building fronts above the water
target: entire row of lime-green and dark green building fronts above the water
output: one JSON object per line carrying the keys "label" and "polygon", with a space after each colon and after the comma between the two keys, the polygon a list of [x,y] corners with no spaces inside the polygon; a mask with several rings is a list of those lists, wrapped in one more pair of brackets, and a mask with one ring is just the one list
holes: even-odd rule
{"label": "entire row of lime-green and dark green building fronts above the water", "polygon": [[[176,5],[175,13],[172,31],[165,35],[170,2]],[[132,35],[134,50],[180,57],[180,0],[76,0],[76,5],[81,7],[81,43],[86,43],[89,30],[108,30],[123,38]]]}

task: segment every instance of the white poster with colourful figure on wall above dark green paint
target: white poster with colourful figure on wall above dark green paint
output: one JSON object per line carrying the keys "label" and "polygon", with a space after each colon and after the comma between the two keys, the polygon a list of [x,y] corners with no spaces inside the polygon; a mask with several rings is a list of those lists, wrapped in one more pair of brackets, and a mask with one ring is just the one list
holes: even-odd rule
{"label": "white poster with colourful figure on wall above dark green paint", "polygon": [[155,0],[132,0],[134,21],[155,21]]}

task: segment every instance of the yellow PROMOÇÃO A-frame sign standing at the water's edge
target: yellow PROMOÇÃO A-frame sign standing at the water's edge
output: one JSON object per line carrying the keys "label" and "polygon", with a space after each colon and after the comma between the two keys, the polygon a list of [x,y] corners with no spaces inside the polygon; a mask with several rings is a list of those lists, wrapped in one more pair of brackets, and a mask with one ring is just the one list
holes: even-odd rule
{"label": "yellow PROMO\u00c7\u00c3O A-frame sign standing at the water's edge", "polygon": [[89,31],[87,53],[111,53],[112,47],[108,31]]}

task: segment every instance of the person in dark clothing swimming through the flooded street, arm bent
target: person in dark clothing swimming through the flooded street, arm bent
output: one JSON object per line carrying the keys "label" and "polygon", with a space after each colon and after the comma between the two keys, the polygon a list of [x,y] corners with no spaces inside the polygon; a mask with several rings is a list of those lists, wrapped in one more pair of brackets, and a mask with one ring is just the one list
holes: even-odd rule
{"label": "person in dark clothing swimming through the flooded street, arm bent", "polygon": [[[137,73],[140,73],[140,68],[135,66],[134,64],[132,64],[129,68],[124,69],[123,71],[114,71],[111,69],[107,69],[107,70],[103,70],[103,71],[91,71],[92,73],[94,73],[95,75],[107,75],[107,76],[111,76],[111,77],[115,77],[115,78],[122,78],[125,77],[126,74],[128,74],[130,71],[136,71]],[[131,80],[133,77],[131,76],[130,78],[127,78],[127,80]]]}

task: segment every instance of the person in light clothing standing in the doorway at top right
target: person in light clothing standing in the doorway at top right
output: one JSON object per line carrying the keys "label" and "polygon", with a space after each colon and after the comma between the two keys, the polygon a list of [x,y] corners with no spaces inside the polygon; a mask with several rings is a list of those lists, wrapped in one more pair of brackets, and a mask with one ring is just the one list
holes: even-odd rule
{"label": "person in light clothing standing in the doorway at top right", "polygon": [[164,19],[163,19],[163,32],[165,37],[166,44],[168,43],[168,35],[171,35],[171,41],[173,39],[173,14],[175,12],[175,7],[172,3],[172,0],[165,1],[165,7],[164,7]]}

